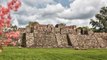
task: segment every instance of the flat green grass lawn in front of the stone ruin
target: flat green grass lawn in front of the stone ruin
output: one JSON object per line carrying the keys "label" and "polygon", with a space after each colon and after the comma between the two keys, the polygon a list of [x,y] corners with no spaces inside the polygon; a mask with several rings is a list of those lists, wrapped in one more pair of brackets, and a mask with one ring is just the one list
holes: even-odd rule
{"label": "flat green grass lawn in front of the stone ruin", "polygon": [[0,60],[107,60],[107,49],[5,47]]}

